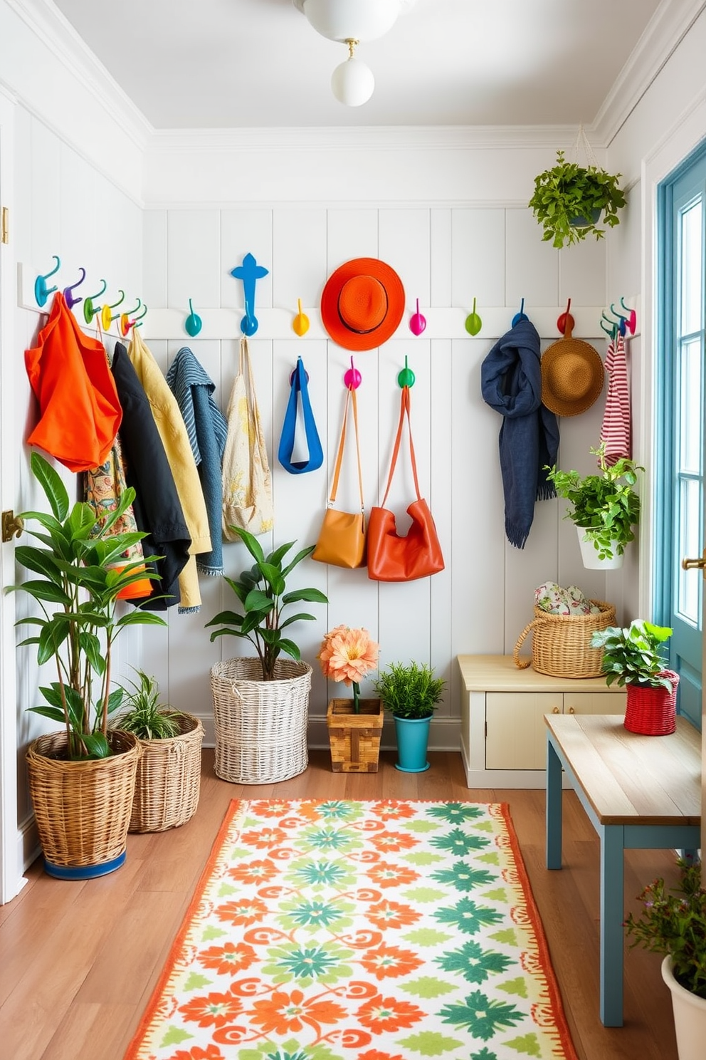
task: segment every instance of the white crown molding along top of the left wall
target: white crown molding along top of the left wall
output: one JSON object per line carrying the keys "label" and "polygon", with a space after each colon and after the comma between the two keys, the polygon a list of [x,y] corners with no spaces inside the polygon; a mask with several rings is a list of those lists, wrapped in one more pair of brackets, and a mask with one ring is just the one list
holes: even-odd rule
{"label": "white crown molding along top of the left wall", "polygon": [[78,36],[53,0],[4,0],[83,87],[95,96],[106,113],[143,149],[153,128],[117,85],[103,63]]}

